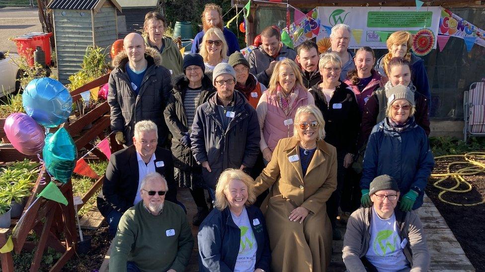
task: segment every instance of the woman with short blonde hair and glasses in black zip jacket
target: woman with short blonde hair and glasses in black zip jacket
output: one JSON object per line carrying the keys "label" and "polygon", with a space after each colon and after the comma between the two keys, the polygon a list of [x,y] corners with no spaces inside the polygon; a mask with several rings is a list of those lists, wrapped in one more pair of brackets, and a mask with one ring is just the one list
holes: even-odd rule
{"label": "woman with short blonde hair and glasses in black zip jacket", "polygon": [[325,118],[325,141],[337,149],[337,189],[327,201],[326,211],[332,224],[334,240],[341,240],[336,219],[347,168],[356,153],[357,134],[360,128],[360,110],[352,88],[340,82],[342,60],[335,53],[324,53],[319,61],[322,81],[309,92],[315,106]]}

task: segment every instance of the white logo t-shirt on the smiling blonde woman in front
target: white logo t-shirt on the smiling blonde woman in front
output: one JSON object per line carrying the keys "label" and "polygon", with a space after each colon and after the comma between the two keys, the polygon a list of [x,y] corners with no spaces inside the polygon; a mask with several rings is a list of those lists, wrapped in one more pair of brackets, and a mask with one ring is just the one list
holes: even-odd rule
{"label": "white logo t-shirt on the smiling blonde woman in front", "polygon": [[234,272],[254,272],[256,266],[257,243],[252,232],[251,223],[247,217],[246,208],[238,217],[231,213],[234,223],[241,230],[241,241],[239,243],[239,254],[236,259]]}

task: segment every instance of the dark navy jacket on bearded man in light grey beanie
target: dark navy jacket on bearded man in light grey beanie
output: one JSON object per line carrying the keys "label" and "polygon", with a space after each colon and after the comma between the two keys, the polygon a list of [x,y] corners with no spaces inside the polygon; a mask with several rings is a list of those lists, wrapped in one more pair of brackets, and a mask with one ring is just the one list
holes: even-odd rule
{"label": "dark navy jacket on bearded man in light grey beanie", "polygon": [[221,117],[216,105],[216,94],[199,106],[192,124],[192,154],[197,163],[207,161],[212,172],[202,167],[202,177],[210,188],[216,188],[219,175],[227,168],[250,171],[259,154],[259,123],[256,110],[247,102],[244,95],[234,91],[235,116],[223,130]]}

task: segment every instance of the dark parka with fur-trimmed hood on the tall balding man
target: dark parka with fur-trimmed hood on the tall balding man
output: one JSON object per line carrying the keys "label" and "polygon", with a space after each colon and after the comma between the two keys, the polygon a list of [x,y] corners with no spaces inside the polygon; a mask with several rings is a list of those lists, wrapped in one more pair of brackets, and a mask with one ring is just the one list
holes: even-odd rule
{"label": "dark parka with fur-trimmed hood on the tall balding man", "polygon": [[145,58],[148,66],[138,95],[125,71],[128,62],[126,53],[120,52],[113,59],[114,69],[109,75],[107,99],[111,109],[111,129],[113,132],[122,131],[126,145],[130,146],[133,144],[135,123],[152,120],[158,127],[158,145],[163,147],[168,136],[163,110],[172,89],[170,72],[162,66],[162,57],[156,49],[147,47]]}

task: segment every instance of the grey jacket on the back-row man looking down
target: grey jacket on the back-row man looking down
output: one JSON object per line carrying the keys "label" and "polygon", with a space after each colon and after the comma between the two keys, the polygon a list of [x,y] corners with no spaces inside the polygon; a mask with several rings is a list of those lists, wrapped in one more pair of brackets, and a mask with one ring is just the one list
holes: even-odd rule
{"label": "grey jacket on the back-row man looking down", "polygon": [[251,51],[247,61],[249,61],[249,72],[256,76],[257,80],[263,84],[264,86],[268,87],[269,79],[271,75],[267,75],[264,70],[269,67],[271,61],[276,60],[280,61],[281,58],[286,57],[291,60],[295,60],[296,52],[288,48],[287,46],[281,46],[280,53],[276,58],[266,54],[262,47],[258,47]]}

